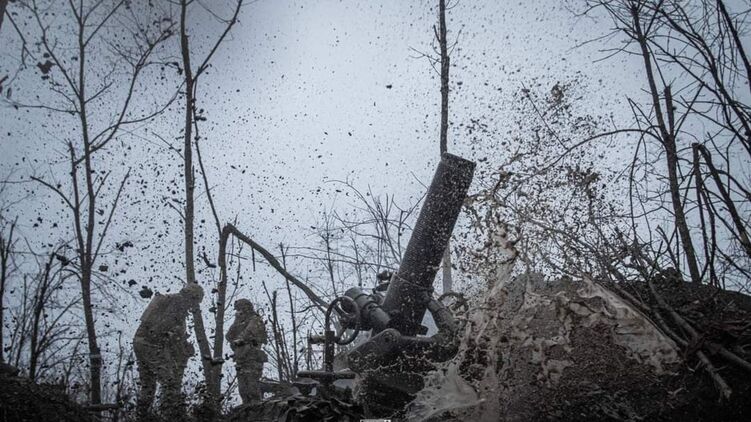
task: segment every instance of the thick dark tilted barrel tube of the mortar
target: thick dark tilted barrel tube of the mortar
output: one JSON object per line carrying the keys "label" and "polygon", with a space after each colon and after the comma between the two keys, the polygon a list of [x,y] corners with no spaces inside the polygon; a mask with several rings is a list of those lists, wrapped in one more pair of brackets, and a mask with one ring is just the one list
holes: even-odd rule
{"label": "thick dark tilted barrel tube of the mortar", "polygon": [[475,163],[445,153],[417,218],[399,272],[392,278],[382,307],[390,326],[402,335],[418,332],[432,293],[433,280],[467,196]]}

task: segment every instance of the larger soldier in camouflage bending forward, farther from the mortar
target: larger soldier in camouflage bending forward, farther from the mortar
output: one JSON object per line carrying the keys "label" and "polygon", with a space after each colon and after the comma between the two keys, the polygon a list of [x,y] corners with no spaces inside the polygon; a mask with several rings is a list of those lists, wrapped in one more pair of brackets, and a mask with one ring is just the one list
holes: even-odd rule
{"label": "larger soldier in camouflage bending forward, farther from the mortar", "polygon": [[188,360],[195,353],[188,341],[185,319],[203,299],[203,289],[190,283],[180,292],[156,295],[141,316],[133,339],[141,391],[138,416],[149,412],[157,383],[162,386],[161,411],[166,417],[183,418],[182,379]]}

